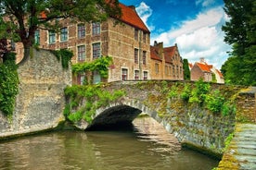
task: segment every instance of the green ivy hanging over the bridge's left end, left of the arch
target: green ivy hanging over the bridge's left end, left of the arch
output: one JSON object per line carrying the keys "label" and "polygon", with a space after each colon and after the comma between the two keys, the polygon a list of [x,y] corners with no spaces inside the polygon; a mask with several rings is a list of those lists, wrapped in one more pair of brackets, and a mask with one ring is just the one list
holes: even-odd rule
{"label": "green ivy hanging over the bridge's left end, left of the arch", "polygon": [[[70,104],[66,105],[64,115],[72,122],[84,119],[92,121],[92,116],[96,114],[96,109],[107,106],[124,95],[124,91],[104,91],[104,85],[73,85],[65,89],[65,95]],[[72,110],[76,112],[72,113]]]}

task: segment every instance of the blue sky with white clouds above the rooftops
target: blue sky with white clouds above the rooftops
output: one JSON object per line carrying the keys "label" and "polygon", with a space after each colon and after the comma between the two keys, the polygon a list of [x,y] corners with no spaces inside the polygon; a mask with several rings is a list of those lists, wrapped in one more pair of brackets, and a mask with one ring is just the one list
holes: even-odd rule
{"label": "blue sky with white clouds above the rooftops", "polygon": [[180,55],[194,64],[204,57],[220,69],[231,46],[224,42],[222,25],[228,21],[223,0],[120,0],[135,9],[150,30],[150,44],[177,43]]}

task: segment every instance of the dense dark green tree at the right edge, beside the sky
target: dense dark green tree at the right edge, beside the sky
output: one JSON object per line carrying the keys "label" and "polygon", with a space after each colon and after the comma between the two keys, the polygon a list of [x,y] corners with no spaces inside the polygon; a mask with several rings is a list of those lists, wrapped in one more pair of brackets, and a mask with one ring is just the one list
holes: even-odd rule
{"label": "dense dark green tree at the right edge, beside the sky", "polygon": [[231,57],[224,63],[224,78],[233,84],[256,85],[256,1],[224,0],[230,18],[223,26]]}

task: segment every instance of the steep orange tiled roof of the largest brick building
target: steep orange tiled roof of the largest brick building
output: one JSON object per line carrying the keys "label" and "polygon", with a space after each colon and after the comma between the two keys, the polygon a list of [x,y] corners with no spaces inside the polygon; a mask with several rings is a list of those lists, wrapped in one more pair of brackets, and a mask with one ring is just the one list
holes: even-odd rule
{"label": "steep orange tiled roof of the largest brick building", "polygon": [[142,21],[142,19],[138,16],[137,12],[134,9],[134,6],[125,6],[123,4],[119,4],[122,9],[122,17],[119,18],[122,22],[131,25],[137,29],[144,30],[146,32],[150,32],[147,29],[147,26]]}

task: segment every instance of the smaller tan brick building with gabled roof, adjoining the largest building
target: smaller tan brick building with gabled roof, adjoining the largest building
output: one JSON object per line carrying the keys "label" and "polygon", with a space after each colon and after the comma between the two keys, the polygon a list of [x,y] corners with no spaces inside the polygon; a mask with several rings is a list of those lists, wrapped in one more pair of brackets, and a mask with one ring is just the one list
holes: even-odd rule
{"label": "smaller tan brick building with gabled roof, adjoining the largest building", "polygon": [[151,79],[184,79],[183,60],[177,44],[163,47],[162,42],[150,46]]}

